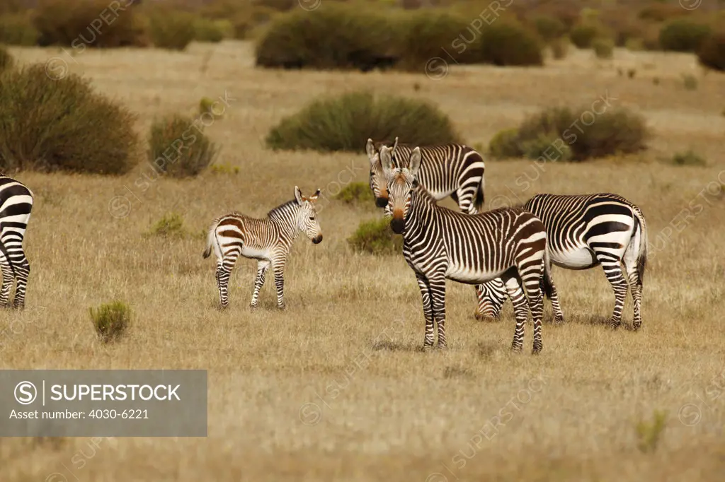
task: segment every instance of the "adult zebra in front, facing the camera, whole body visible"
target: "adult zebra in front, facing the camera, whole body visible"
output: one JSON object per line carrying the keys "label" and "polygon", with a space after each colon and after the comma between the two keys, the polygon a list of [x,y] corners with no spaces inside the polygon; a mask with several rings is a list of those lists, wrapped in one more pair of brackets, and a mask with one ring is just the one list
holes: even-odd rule
{"label": "adult zebra in front, facing the camera, whole body visible", "polygon": [[413,149],[410,164],[402,169],[394,166],[390,151],[388,147],[381,148],[380,158],[387,179],[391,227],[403,235],[403,255],[415,271],[421,289],[426,317],[423,349],[433,346],[434,321],[438,325],[438,346],[446,347],[446,279],[481,284],[501,277],[516,313],[511,349],[521,351],[523,346],[528,305],[534,320],[533,352],[539,353],[543,347],[542,277],[549,295],[552,286],[542,221],[517,208],[468,215],[438,206],[417,179],[421,150]]}

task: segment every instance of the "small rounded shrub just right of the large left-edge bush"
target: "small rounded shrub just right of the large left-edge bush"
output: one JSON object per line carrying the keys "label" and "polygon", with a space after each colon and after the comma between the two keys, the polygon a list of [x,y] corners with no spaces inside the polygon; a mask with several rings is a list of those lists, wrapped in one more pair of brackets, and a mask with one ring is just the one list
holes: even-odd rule
{"label": "small rounded shrub just right of the large left-edge bush", "polygon": [[217,146],[193,124],[194,119],[181,115],[154,121],[149,133],[149,161],[171,177],[202,172],[214,160]]}

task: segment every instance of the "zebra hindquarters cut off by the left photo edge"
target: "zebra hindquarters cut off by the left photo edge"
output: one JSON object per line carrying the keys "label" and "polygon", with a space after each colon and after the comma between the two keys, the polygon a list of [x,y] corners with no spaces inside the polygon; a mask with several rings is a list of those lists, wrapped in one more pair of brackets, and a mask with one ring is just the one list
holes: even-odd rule
{"label": "zebra hindquarters cut off by the left photo edge", "polygon": [[3,307],[9,301],[13,279],[16,282],[13,307],[25,307],[30,263],[22,249],[22,238],[28,228],[32,209],[33,193],[30,189],[15,179],[0,176],[0,306]]}

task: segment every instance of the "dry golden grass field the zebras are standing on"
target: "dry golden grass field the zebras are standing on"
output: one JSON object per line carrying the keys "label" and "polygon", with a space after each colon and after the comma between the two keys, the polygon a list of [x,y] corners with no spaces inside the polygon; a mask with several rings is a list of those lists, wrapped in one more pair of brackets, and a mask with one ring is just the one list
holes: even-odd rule
{"label": "dry golden grass field the zebras are standing on", "polygon": [[[0,313],[0,365],[207,369],[209,431],[199,439],[1,439],[1,481],[722,479],[725,76],[703,75],[694,56],[617,50],[602,61],[575,49],[543,68],[453,66],[430,80],[264,71],[253,67],[251,45],[233,41],[183,53],[88,50],[75,60],[56,49],[11,52],[21,63],[65,59],[138,112],[144,135],[155,116],[194,111],[202,96],[226,92],[225,117],[207,132],[222,145],[218,163],[240,172],[181,181],[157,179],[141,164],[124,177],[17,174],[36,194],[26,238],[32,271],[25,311]],[[683,74],[698,78],[697,89],[684,88]],[[346,242],[381,211],[332,198],[347,182],[367,181],[365,140],[357,155],[263,145],[270,127],[310,99],[356,88],[431,99],[471,145],[558,103],[589,106],[608,94],[611,105],[641,112],[653,131],[645,153],[539,167],[489,160],[486,203],[601,191],[637,203],[652,245],[642,329],[608,329],[613,294],[600,269],[555,269],[566,322],[544,324],[541,355],[530,354],[530,324],[523,353],[510,353],[510,303],[501,321],[476,321],[473,288],[452,282],[450,347],[419,351],[413,271],[402,255],[358,255]],[[666,161],[688,148],[708,165]],[[260,310],[249,311],[256,264],[241,259],[221,312],[202,231],[229,211],[261,216],[291,199],[295,185],[323,190],[324,240],[294,245],[289,309],[275,310],[268,279]],[[109,203],[125,202],[115,196],[128,198],[127,216],[109,213],[117,206]],[[188,237],[144,237],[173,211]],[[88,307],[114,299],[131,305],[133,326],[120,342],[99,344]],[[666,411],[666,426],[647,450],[637,426],[657,411]],[[72,462],[78,454],[82,466]]]}

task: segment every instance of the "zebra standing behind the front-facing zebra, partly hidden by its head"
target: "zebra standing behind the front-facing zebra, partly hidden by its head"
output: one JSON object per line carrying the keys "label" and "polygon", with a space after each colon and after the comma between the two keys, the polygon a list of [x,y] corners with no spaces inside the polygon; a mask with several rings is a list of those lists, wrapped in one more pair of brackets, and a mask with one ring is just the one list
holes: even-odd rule
{"label": "zebra standing behind the front-facing zebra, partly hidden by its head", "polygon": [[[378,208],[388,204],[386,178],[380,163],[382,143],[368,139],[365,151],[370,159],[370,189]],[[450,196],[464,213],[475,214],[484,204],[484,158],[473,148],[460,144],[428,145],[421,147],[421,172],[418,180],[436,200]],[[392,148],[394,163],[405,167],[413,153],[410,145]],[[401,162],[402,161],[402,162]]]}

